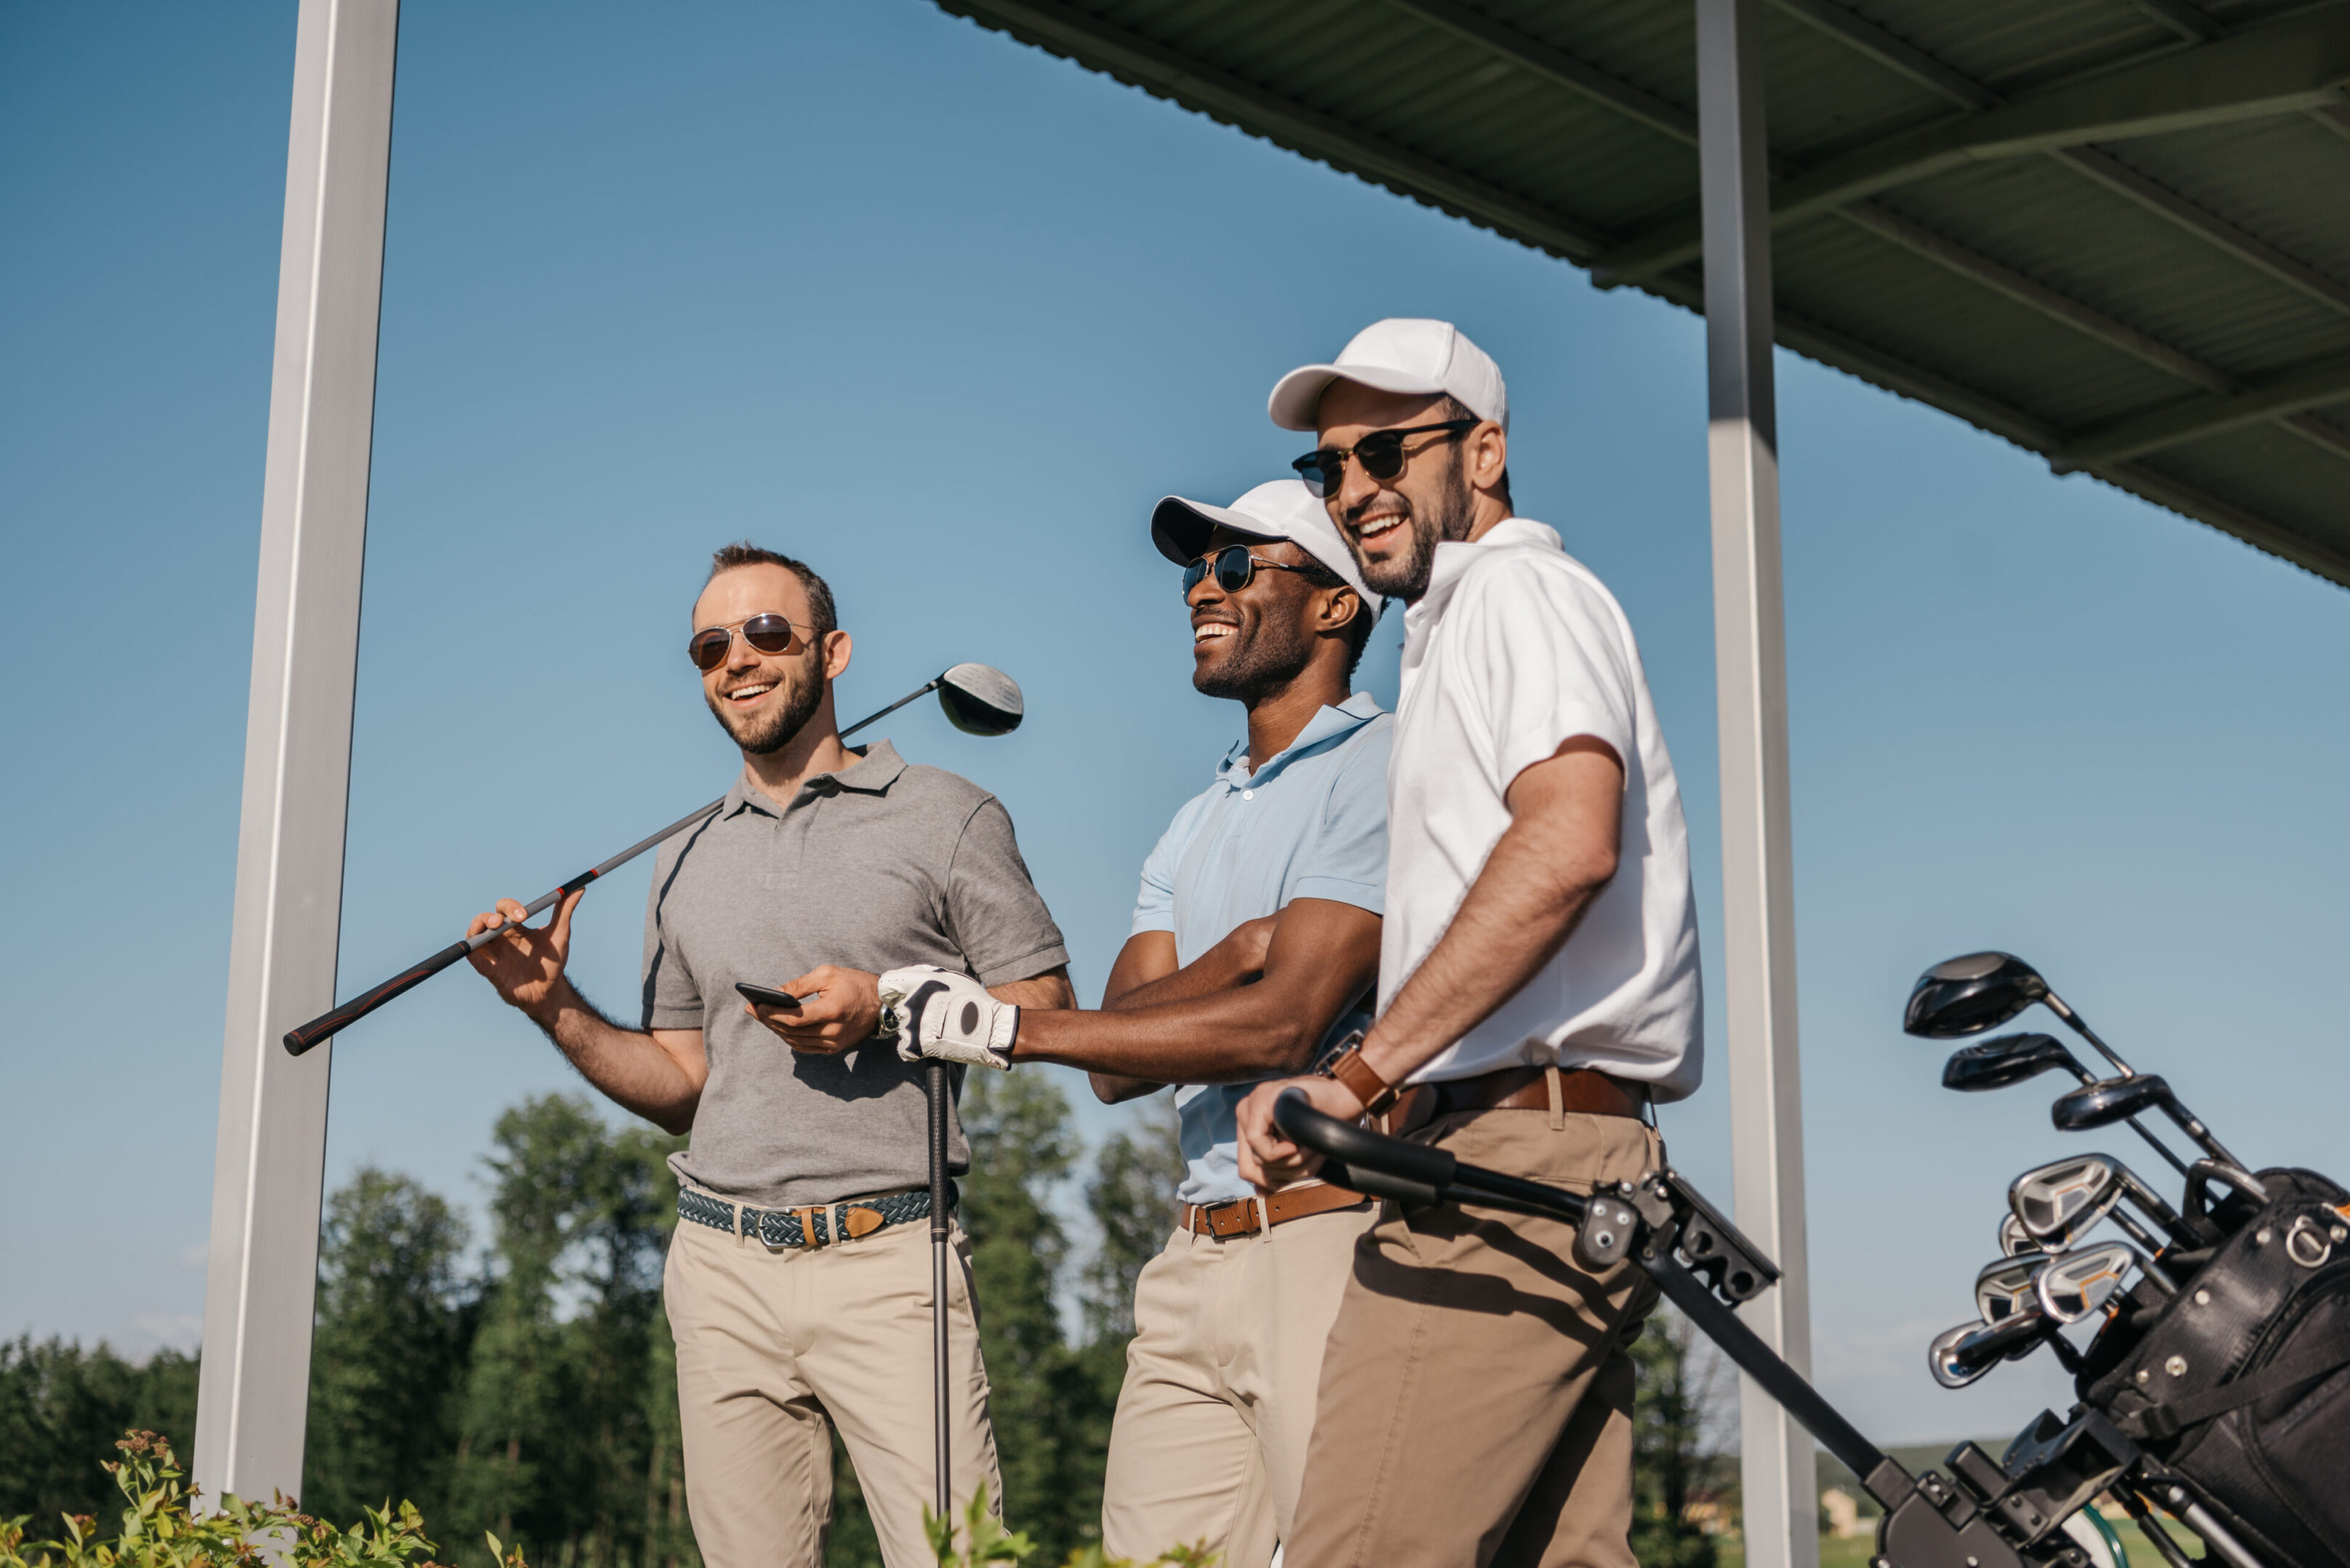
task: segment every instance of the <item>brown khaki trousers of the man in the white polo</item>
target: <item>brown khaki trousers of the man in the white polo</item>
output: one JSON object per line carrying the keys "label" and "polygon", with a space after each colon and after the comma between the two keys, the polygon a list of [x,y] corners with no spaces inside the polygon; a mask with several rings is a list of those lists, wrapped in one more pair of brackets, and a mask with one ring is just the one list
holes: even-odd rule
{"label": "brown khaki trousers of the man in the white polo", "polygon": [[[1464,1161],[1589,1192],[1664,1164],[1629,1117],[1443,1117],[1415,1133]],[[1323,1352],[1285,1568],[1636,1568],[1633,1368],[1657,1288],[1589,1274],[1574,1227],[1492,1208],[1384,1204]]]}

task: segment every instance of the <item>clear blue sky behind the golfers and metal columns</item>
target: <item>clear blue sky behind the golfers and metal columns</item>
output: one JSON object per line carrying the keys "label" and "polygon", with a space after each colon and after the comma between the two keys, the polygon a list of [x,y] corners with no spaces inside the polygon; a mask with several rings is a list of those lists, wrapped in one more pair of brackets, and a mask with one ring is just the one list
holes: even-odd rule
{"label": "clear blue sky behind the golfers and metal columns", "polygon": [[[291,52],[289,2],[0,9],[0,1333],[202,1309]],[[1520,508],[1633,618],[1718,994],[1694,317],[919,0],[409,0],[341,992],[726,785],[677,649],[752,536],[832,578],[844,715],[1025,684],[1008,741],[886,733],[1003,797],[1097,994],[1238,729],[1149,503],[1281,475],[1267,388],[1379,315],[1502,362]],[[2066,1401],[2047,1356],[1953,1396],[1922,1347],[2007,1178],[2082,1145],[1939,1091],[1901,999],[2023,952],[2247,1157],[2341,1173],[2350,599],[1779,367],[1819,1382],[1885,1441],[1990,1432]],[[613,1004],[642,896],[580,914]],[[1727,1201],[1708,1067],[1664,1126]],[[571,1086],[451,973],[336,1046],[329,1182],[475,1199],[498,1110]]]}

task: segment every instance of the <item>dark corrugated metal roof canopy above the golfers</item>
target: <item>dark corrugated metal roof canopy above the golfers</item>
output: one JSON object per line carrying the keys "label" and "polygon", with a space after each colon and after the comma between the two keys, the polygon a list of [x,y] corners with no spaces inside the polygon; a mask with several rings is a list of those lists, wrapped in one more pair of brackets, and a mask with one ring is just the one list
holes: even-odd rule
{"label": "dark corrugated metal roof canopy above the golfers", "polygon": [[[1657,0],[935,0],[1701,308]],[[1770,0],[1777,341],[2350,583],[2350,2]]]}

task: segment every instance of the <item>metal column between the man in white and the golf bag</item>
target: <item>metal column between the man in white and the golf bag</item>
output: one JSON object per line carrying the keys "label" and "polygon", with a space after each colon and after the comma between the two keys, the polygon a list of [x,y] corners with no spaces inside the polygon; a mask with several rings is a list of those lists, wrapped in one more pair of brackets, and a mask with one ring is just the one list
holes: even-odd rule
{"label": "metal column between the man in white and the golf bag", "polygon": [[[1706,237],[1713,672],[1723,733],[1730,1159],[1739,1229],[1786,1269],[1779,1288],[1748,1302],[1744,1316],[1810,1378],[1762,0],[1697,0],[1697,125]],[[1753,1380],[1744,1380],[1739,1399],[1739,1476],[1748,1568],[1819,1568],[1812,1436]]]}

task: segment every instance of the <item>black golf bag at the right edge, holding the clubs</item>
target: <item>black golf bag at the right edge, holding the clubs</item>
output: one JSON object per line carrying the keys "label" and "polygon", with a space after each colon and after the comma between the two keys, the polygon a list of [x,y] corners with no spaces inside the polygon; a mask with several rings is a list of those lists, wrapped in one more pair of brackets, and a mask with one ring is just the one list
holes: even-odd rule
{"label": "black golf bag at the right edge, holding the clubs", "polygon": [[2211,1208],[2204,1260],[2171,1255],[2174,1295],[2127,1298],[2077,1392],[2157,1495],[2183,1488],[2272,1566],[2350,1568],[2350,1192],[2312,1171],[2258,1182],[2265,1201]]}

